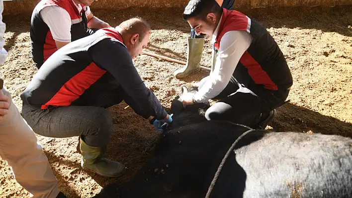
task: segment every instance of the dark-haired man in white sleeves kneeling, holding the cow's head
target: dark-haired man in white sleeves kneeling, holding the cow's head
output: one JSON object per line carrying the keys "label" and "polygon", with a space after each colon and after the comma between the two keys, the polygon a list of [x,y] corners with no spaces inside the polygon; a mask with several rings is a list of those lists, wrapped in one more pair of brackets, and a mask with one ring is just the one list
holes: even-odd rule
{"label": "dark-haired man in white sleeves kneeling, holding the cow's head", "polygon": [[206,119],[265,129],[292,86],[277,43],[257,21],[214,0],[190,0],[183,18],[197,35],[212,39],[215,57],[210,75],[198,83],[198,93],[184,95],[184,105],[217,99]]}

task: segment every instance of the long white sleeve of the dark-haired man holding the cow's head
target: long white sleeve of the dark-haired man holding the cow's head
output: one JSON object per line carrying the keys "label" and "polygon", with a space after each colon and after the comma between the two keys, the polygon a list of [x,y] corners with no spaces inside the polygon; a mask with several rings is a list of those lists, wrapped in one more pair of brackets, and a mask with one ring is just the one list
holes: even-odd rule
{"label": "long white sleeve of the dark-haired man holding the cow's head", "polygon": [[205,102],[219,95],[229,83],[238,62],[252,43],[252,36],[245,31],[229,31],[220,42],[214,71],[199,83],[196,102]]}

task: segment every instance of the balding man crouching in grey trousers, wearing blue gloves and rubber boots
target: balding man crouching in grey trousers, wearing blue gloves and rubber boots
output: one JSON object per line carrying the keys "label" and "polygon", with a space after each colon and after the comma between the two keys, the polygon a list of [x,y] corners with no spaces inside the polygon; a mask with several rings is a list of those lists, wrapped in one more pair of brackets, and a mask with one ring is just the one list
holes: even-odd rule
{"label": "balding man crouching in grey trousers, wearing blue gloves and rubber boots", "polygon": [[132,62],[150,34],[145,20],[132,18],[55,52],[21,94],[24,119],[40,135],[81,136],[84,169],[106,177],[122,175],[123,164],[103,158],[113,131],[105,108],[124,100],[158,131],[172,122]]}

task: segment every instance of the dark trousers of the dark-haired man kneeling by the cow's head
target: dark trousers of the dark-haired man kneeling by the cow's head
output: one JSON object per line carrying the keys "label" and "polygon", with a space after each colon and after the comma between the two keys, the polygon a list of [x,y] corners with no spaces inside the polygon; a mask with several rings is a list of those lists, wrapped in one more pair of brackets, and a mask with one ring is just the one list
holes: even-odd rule
{"label": "dark trousers of the dark-haired man kneeling by the cow's head", "polygon": [[256,128],[261,115],[284,104],[289,90],[271,91],[265,88],[247,88],[232,79],[214,99],[218,102],[206,112],[207,120],[228,120]]}

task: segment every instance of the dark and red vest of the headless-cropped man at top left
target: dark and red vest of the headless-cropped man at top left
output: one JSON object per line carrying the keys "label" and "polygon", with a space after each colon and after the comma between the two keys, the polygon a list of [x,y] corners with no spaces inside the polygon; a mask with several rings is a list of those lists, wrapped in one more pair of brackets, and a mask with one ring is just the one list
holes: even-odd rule
{"label": "dark and red vest of the headless-cropped man at top left", "polygon": [[[81,4],[83,9],[78,11],[72,0],[41,0],[35,6],[30,25],[31,53],[32,59],[38,69],[43,63],[57,51],[55,40],[48,25],[43,21],[39,12],[48,6],[59,6],[64,8],[71,17],[71,41],[88,36],[87,32],[87,6]],[[60,19],[58,19],[60,21]]]}

